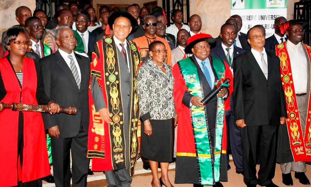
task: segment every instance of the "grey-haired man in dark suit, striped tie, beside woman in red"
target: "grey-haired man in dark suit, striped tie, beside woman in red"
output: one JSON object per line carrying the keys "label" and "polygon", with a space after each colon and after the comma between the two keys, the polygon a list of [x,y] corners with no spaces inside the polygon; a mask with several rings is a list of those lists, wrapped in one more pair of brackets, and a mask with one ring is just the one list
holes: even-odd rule
{"label": "grey-haired man in dark suit, striped tie, beside woman in red", "polygon": [[56,187],[70,187],[70,149],[72,185],[86,186],[89,167],[87,136],[89,128],[89,59],[74,53],[77,41],[72,29],[56,30],[58,51],[40,60],[45,93],[61,106],[74,106],[76,115],[43,114],[52,144],[53,173]]}

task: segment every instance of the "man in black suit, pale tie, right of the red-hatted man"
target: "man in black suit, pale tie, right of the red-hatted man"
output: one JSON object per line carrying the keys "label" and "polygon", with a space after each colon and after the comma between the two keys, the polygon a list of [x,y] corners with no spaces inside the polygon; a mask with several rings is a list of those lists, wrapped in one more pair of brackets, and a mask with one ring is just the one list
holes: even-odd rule
{"label": "man in black suit, pale tie, right of the red-hatted man", "polygon": [[[285,124],[286,105],[280,59],[265,50],[265,33],[253,27],[247,33],[251,49],[233,60],[234,117],[241,128],[244,183],[248,187],[276,187],[276,142]],[[256,176],[257,158],[260,169]]]}

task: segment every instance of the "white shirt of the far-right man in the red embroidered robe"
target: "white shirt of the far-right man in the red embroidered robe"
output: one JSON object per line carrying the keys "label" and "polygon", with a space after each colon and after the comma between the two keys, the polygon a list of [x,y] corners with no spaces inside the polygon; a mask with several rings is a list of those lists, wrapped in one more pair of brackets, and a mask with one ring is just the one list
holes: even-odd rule
{"label": "white shirt of the far-right man in the red embroidered robe", "polygon": [[304,48],[299,42],[297,45],[286,41],[286,48],[290,57],[290,66],[294,81],[295,93],[307,92],[307,57]]}

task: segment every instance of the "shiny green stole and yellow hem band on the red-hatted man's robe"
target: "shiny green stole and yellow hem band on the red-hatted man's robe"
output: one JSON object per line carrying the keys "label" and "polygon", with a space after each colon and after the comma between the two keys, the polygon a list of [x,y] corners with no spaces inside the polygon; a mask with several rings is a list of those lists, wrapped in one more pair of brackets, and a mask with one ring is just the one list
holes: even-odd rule
{"label": "shiny green stole and yellow hem band on the red-hatted man's robe", "polygon": [[[211,57],[212,66],[216,72],[217,78],[224,78],[225,64],[219,59]],[[190,94],[194,96],[204,97],[201,81],[197,66],[190,58],[185,58],[179,63],[180,71],[188,87]],[[193,126],[194,141],[196,144],[196,154],[177,153],[178,156],[197,157],[199,174],[202,185],[213,185],[213,182],[220,180],[220,156],[222,145],[222,135],[224,126],[224,101],[222,97],[217,100],[217,116],[216,116],[216,134],[215,134],[215,149],[210,147],[208,137],[209,130],[207,124],[207,113],[204,107],[196,107],[192,105],[190,109],[191,120]],[[214,157],[212,159],[212,157]]]}

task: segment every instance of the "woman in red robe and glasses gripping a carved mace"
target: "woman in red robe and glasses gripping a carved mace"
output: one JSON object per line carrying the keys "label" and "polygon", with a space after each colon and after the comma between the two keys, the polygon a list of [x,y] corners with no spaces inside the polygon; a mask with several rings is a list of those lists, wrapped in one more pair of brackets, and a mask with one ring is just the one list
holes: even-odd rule
{"label": "woman in red robe and glasses gripping a carved mace", "polygon": [[[58,112],[58,104],[44,93],[40,65],[24,56],[28,40],[21,26],[4,36],[9,54],[0,60],[0,102],[49,104],[51,114]],[[41,114],[0,105],[0,132],[0,186],[37,186],[37,179],[50,174]]]}

